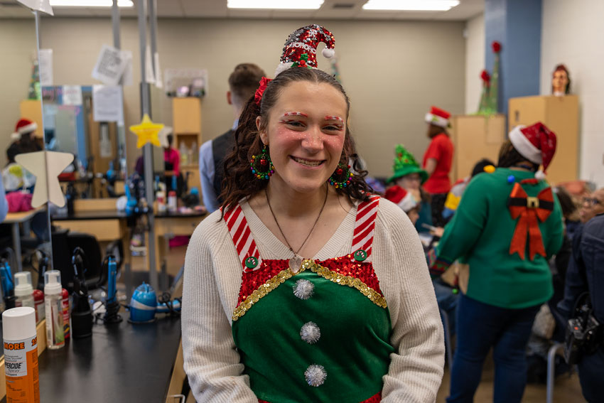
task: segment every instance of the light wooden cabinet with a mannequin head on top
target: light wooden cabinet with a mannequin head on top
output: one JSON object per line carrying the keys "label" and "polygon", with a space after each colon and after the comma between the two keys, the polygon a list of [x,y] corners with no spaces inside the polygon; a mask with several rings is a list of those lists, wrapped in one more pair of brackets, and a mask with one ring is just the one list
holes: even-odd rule
{"label": "light wooden cabinet with a mannequin head on top", "polygon": [[541,122],[556,133],[556,154],[547,168],[550,183],[578,179],[579,102],[576,95],[510,98],[508,111],[510,130],[519,124],[529,126]]}

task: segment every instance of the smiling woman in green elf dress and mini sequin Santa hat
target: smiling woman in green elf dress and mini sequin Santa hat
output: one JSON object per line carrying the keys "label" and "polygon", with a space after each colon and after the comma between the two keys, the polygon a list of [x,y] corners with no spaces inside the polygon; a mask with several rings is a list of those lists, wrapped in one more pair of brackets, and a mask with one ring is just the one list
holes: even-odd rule
{"label": "smiling woman in green elf dress and mini sequin Santa hat", "polygon": [[318,25],[288,37],[242,112],[221,210],[189,243],[183,353],[198,402],[436,399],[443,328],[424,252],[363,179],[350,101],[312,51],[333,55],[333,41]]}

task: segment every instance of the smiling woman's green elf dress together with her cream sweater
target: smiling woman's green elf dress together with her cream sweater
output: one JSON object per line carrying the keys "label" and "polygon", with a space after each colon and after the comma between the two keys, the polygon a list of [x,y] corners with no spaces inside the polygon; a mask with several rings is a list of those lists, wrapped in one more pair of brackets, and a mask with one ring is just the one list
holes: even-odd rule
{"label": "smiling woman's green elf dress together with her cream sweater", "polygon": [[247,202],[212,213],[185,259],[183,352],[200,402],[433,402],[443,331],[411,222],[355,205],[297,273]]}

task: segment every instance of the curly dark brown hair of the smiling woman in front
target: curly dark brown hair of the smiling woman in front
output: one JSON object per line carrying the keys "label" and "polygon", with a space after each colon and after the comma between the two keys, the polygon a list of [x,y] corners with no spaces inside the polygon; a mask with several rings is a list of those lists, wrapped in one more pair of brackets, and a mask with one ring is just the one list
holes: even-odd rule
{"label": "curly dark brown hair of the smiling woman in front", "polygon": [[[257,179],[249,169],[249,161],[252,156],[260,154],[264,144],[260,140],[259,131],[256,127],[256,118],[261,117],[261,129],[266,129],[269,112],[279,100],[282,90],[292,82],[308,81],[314,83],[326,83],[337,89],[344,95],[346,100],[346,114],[350,111],[350,100],[344,88],[335,78],[322,70],[308,68],[289,68],[281,72],[274,80],[269,82],[260,105],[250,98],[245,105],[239,125],[235,131],[235,147],[225,158],[225,180],[222,182],[220,200],[225,200],[222,205],[232,208],[242,198],[250,198],[260,190],[266,188],[267,181]],[[347,195],[349,200],[368,200],[373,189],[365,182],[367,171],[362,169],[360,158],[357,155],[355,141],[350,134],[350,128],[346,124],[344,147],[339,163],[350,164],[355,171],[355,176],[350,179],[350,185],[346,188],[336,188],[339,195]]]}

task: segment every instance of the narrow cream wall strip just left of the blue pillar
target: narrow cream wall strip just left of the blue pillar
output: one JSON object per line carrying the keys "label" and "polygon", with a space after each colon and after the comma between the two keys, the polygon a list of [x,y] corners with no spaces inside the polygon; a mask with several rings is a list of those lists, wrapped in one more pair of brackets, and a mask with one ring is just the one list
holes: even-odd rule
{"label": "narrow cream wall strip just left of the blue pillar", "polygon": [[478,112],[485,69],[485,16],[479,14],[465,22],[465,113]]}

